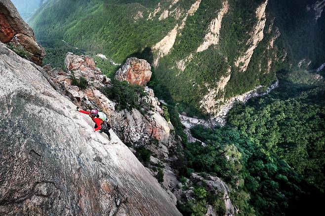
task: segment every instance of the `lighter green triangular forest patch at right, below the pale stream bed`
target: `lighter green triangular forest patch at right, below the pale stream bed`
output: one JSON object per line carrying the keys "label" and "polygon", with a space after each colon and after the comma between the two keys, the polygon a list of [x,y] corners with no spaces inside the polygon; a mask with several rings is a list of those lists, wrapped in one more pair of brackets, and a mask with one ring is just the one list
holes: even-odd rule
{"label": "lighter green triangular forest patch at right, below the pale stream bed", "polygon": [[284,82],[274,93],[229,113],[229,124],[325,190],[325,86]]}

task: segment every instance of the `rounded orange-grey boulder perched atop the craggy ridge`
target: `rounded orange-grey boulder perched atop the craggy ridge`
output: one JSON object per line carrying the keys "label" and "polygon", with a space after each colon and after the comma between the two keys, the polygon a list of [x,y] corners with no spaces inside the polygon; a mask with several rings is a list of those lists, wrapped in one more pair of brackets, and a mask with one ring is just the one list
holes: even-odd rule
{"label": "rounded orange-grey boulder perched atop the craggy ridge", "polygon": [[151,78],[151,66],[143,59],[129,58],[119,71],[115,78],[120,81],[128,81],[130,84],[145,86]]}

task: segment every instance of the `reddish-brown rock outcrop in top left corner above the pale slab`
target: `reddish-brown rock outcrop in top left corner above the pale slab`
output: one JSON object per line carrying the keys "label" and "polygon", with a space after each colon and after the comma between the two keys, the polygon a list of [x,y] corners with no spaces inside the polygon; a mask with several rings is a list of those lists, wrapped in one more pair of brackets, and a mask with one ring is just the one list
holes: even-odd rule
{"label": "reddish-brown rock outcrop in top left corner above the pale slab", "polygon": [[41,65],[45,51],[10,0],[0,0],[0,41],[17,47],[29,60]]}

